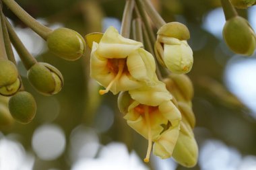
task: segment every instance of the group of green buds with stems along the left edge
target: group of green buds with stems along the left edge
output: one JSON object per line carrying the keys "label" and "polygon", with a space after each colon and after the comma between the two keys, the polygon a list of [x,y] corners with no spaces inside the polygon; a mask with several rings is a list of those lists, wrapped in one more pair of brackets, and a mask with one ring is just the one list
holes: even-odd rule
{"label": "group of green buds with stems along the left edge", "polygon": [[[86,43],[84,38],[74,30],[68,28],[51,30],[28,15],[15,1],[3,0],[3,3],[24,24],[41,36],[46,41],[49,51],[56,56],[65,60],[77,60],[84,55]],[[28,81],[38,93],[42,95],[59,93],[64,81],[63,75],[57,68],[49,63],[37,62],[36,58],[28,52],[11,24],[9,24],[2,9],[0,10],[0,15],[0,126],[4,128],[11,125],[11,118],[27,124],[33,120],[36,114],[36,101],[30,93],[24,91],[11,44],[18,52],[24,67],[28,71]]]}

